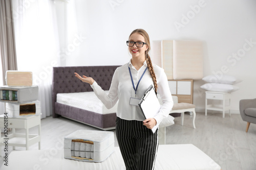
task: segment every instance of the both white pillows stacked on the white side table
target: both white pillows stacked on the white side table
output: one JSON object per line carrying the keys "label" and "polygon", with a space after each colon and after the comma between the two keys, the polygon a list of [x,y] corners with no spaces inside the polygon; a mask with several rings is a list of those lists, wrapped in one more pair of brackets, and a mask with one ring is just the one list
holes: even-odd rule
{"label": "both white pillows stacked on the white side table", "polygon": [[218,92],[233,92],[239,90],[239,87],[234,86],[241,82],[233,76],[222,75],[221,78],[217,78],[214,75],[204,77],[202,80],[207,82],[202,85],[201,88],[207,91],[218,91]]}

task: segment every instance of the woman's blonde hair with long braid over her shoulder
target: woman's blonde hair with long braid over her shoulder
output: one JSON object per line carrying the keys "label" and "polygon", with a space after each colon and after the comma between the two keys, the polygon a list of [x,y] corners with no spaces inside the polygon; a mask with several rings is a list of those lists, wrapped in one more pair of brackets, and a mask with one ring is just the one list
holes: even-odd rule
{"label": "woman's blonde hair with long braid over her shoulder", "polygon": [[142,35],[144,37],[145,41],[146,41],[145,43],[148,46],[147,50],[145,51],[145,58],[146,58],[147,68],[148,68],[148,70],[150,70],[150,75],[151,75],[152,80],[154,82],[155,92],[157,94],[157,78],[156,78],[155,71],[153,69],[153,65],[152,65],[152,62],[151,62],[150,55],[148,55],[148,52],[150,51],[150,36],[148,36],[147,32],[143,29],[136,29],[130,34],[129,38],[134,33],[139,33],[140,35]]}

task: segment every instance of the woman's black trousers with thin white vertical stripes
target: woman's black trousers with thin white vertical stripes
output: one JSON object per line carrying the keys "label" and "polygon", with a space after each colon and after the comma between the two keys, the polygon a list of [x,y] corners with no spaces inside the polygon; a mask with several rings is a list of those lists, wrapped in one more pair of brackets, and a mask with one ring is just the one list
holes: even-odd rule
{"label": "woman's black trousers with thin white vertical stripes", "polygon": [[117,117],[116,137],[126,169],[154,169],[158,130],[153,134],[142,121]]}

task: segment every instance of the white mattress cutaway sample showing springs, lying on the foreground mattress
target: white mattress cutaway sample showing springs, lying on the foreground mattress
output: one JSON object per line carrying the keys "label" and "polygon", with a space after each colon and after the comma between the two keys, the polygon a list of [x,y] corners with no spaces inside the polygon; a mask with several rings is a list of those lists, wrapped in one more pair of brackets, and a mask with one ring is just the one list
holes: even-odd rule
{"label": "white mattress cutaway sample showing springs, lying on the foreground mattress", "polygon": [[64,138],[64,158],[102,162],[114,152],[114,132],[78,130]]}

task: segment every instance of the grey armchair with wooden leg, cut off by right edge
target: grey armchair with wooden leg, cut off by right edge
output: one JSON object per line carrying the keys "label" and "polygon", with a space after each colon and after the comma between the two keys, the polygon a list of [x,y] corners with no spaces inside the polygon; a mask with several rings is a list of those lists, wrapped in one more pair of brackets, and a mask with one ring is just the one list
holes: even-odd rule
{"label": "grey armchair with wooden leg, cut off by right edge", "polygon": [[250,123],[256,124],[256,99],[240,100],[239,110],[242,119],[247,122],[246,132],[248,132]]}

